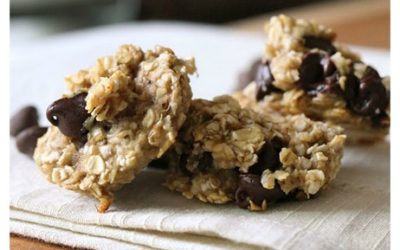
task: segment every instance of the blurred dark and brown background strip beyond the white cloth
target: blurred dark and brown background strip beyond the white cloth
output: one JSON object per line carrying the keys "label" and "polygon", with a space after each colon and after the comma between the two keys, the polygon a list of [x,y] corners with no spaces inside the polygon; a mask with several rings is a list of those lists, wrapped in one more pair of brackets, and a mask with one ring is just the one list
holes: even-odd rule
{"label": "blurred dark and brown background strip beyond the white cloth", "polygon": [[[389,47],[389,0],[11,0],[11,43],[142,21],[185,21],[262,31],[268,16],[315,18],[340,40]],[[343,30],[343,31],[342,31]],[[370,36],[371,30],[374,36]],[[366,39],[367,36],[367,39]]]}

